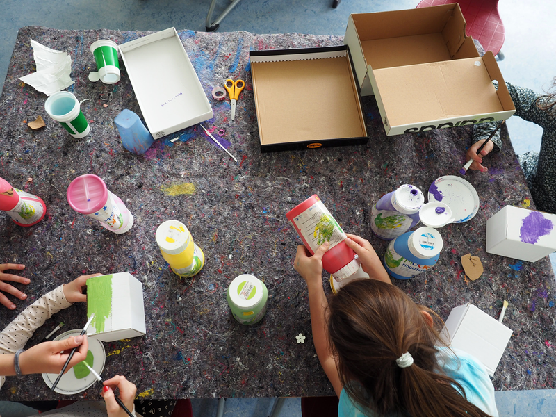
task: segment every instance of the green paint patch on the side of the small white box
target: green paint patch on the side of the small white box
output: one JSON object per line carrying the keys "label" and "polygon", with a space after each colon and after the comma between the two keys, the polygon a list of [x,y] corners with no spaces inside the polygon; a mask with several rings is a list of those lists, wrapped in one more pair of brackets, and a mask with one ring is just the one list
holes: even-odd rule
{"label": "green paint patch on the side of the small white box", "polygon": [[112,275],[87,280],[87,317],[95,313],[91,324],[95,334],[104,332],[104,322],[112,311]]}

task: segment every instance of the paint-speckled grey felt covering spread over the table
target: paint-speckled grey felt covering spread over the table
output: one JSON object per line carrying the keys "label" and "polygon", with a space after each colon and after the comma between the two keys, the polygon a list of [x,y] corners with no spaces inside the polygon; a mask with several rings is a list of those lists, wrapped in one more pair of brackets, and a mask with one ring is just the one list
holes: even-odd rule
{"label": "paint-speckled grey felt covering spread over the table", "polygon": [[[341,44],[342,38],[179,31],[213,106],[214,119],[205,124],[225,129],[224,139],[239,163],[207,140],[198,126],[157,140],[147,154],[137,156],[122,147],[113,122],[124,108],[141,115],[122,60],[119,83],[90,83],[88,74],[96,67],[89,45],[105,38],[122,44],[147,34],[38,26],[19,31],[0,99],[0,177],[42,197],[47,215],[26,228],[0,213],[0,262],[25,263],[23,275],[31,278],[25,288],[28,300],[16,301],[15,311],[0,309],[1,325],[40,295],[81,274],[129,271],[143,284],[147,334],[104,343],[105,377],[126,375],[145,398],[333,395],[313,347],[306,285],[293,270],[300,239],[286,212],[317,194],[345,231],[368,238],[383,256],[387,243],[370,232],[371,206],[402,183],[426,194],[434,179],[457,174],[471,143],[471,127],[387,137],[375,99],[365,97],[368,145],[261,154],[250,49],[329,46]],[[67,135],[45,113],[46,96],[19,81],[19,76],[35,71],[31,39],[71,54],[75,84],[69,90],[86,100],[81,105],[91,126],[86,138]],[[234,122],[229,101],[211,97],[213,87],[230,77],[246,82]],[[26,122],[38,115],[47,126],[31,131]],[[172,143],[172,138],[178,140]],[[466,176],[480,196],[479,213],[469,222],[439,229],[445,241],[439,263],[394,285],[444,320],[452,307],[467,302],[498,318],[502,300],[508,300],[504,322],[514,335],[493,377],[494,386],[555,388],[554,275],[548,258],[522,263],[485,252],[486,220],[506,204],[527,206],[531,199],[505,127],[502,138],[507,146],[488,157],[489,174]],[[122,198],[136,221],[131,231],[113,234],[72,211],[67,186],[87,173],[97,174]],[[26,183],[28,177],[32,183]],[[182,183],[192,183],[193,193],[167,195],[166,188]],[[186,224],[204,250],[206,264],[193,279],[174,275],[156,246],[156,227],[170,219]],[[468,253],[484,265],[477,281],[468,281],[461,267],[460,258]],[[269,294],[265,318],[252,327],[239,325],[226,301],[231,279],[245,272],[263,279]],[[330,293],[326,281],[323,285]],[[27,346],[42,341],[60,321],[66,330],[81,328],[85,316],[84,303],[61,311]],[[296,342],[300,333],[306,336],[304,344]],[[95,384],[69,398],[99,399],[100,391]],[[0,398],[68,397],[50,393],[42,377],[32,375],[8,378]]]}

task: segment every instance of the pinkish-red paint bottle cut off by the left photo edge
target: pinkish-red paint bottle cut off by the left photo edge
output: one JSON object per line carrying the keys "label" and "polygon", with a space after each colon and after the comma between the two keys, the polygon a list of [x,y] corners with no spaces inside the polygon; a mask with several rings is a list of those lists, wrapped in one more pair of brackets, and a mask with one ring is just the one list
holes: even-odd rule
{"label": "pinkish-red paint bottle cut off by the left photo edge", "polygon": [[19,226],[33,226],[44,218],[47,206],[40,197],[13,188],[0,178],[0,210],[6,211]]}

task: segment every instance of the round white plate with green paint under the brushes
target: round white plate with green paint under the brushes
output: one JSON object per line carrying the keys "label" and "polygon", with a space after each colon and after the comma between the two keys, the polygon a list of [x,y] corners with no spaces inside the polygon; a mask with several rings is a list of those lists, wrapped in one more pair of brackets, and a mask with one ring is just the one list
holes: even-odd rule
{"label": "round white plate with green paint under the brushes", "polygon": [[[81,329],[69,330],[60,334],[54,338],[54,340],[63,341],[70,336],[79,336],[80,334]],[[87,353],[87,362],[90,365],[90,360],[92,359],[92,365],[90,365],[91,368],[93,368],[97,374],[101,375],[104,370],[104,362],[106,361],[106,351],[104,350],[104,345],[101,341],[97,341],[97,339],[94,338],[88,338],[88,341],[89,351]],[[56,381],[57,377],[58,374],[42,374],[42,379],[44,379],[44,382],[47,383],[49,388],[52,388],[52,385],[54,384],[54,381]],[[90,371],[82,363],[78,363],[60,378],[60,382],[58,382],[54,391],[58,394],[72,395],[85,391],[85,389],[88,389],[92,384],[95,384],[95,382],[97,382],[95,375],[92,375],[92,373],[90,373]]]}

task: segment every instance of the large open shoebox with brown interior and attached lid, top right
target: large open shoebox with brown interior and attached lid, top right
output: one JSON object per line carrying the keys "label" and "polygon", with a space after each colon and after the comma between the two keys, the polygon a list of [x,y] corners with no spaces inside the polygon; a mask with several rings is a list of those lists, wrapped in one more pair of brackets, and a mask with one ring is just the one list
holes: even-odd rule
{"label": "large open shoebox with brown interior and attached lid, top right", "polygon": [[[459,4],[350,15],[361,95],[375,95],[386,134],[505,120],[515,107],[496,59],[479,56]],[[498,81],[498,91],[493,81]]]}

